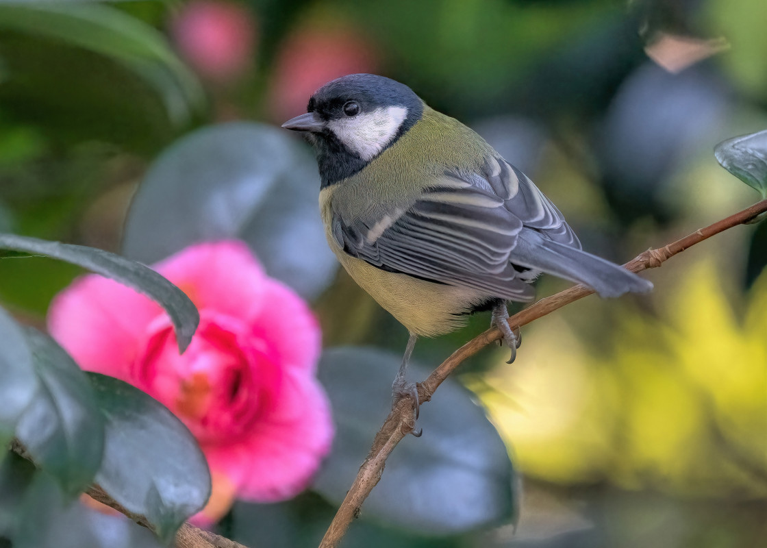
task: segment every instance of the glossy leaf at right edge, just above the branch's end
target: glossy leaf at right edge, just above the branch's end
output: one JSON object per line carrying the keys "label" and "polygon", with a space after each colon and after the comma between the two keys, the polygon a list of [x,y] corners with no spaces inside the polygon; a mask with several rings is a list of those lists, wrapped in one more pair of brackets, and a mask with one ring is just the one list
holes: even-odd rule
{"label": "glossy leaf at right edge, just above the branch's end", "polygon": [[767,198],[767,130],[723,140],[714,156],[729,173]]}

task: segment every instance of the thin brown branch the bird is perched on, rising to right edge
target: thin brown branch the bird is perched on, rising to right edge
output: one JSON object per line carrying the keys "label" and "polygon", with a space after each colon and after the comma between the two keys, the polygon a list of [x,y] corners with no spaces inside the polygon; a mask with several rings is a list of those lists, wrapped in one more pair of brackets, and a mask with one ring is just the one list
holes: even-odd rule
{"label": "thin brown branch the bird is perched on, rising to right edge", "polygon": [[[689,236],[678,239],[667,246],[659,249],[648,249],[640,256],[637,256],[636,259],[627,262],[624,267],[631,272],[641,272],[645,269],[657,268],[677,253],[682,253],[685,249],[694,246],[696,243],[703,242],[704,239],[708,239],[733,226],[748,223],[755,216],[765,213],[765,211],[767,211],[767,200],[762,200],[735,215],[706,226],[706,228],[698,229]],[[574,286],[565,289],[565,291],[541,299],[534,305],[513,315],[509,318],[509,325],[512,328],[527,325],[592,293],[594,291],[585,286]],[[456,352],[453,352],[449,358],[443,361],[442,365],[439,365],[439,367],[432,371],[425,381],[418,383],[420,402],[423,404],[429,401],[437,387],[466,358],[475,355],[482,348],[485,348],[493,341],[499,340],[499,338],[501,338],[499,330],[492,328],[472,338],[471,341],[456,350]],[[413,429],[413,426],[412,403],[408,399],[403,399],[392,409],[386,421],[384,421],[384,425],[376,434],[373,445],[370,447],[370,453],[367,454],[367,458],[362,463],[362,466],[360,466],[360,471],[357,473],[354,483],[344,498],[344,502],[341,503],[341,507],[338,508],[330,527],[328,527],[328,531],[322,538],[320,548],[335,548],[335,546],[338,546],[352,520],[359,515],[362,503],[376,486],[378,480],[380,480],[387,457],[389,457],[394,447],[397,447],[402,438]]]}

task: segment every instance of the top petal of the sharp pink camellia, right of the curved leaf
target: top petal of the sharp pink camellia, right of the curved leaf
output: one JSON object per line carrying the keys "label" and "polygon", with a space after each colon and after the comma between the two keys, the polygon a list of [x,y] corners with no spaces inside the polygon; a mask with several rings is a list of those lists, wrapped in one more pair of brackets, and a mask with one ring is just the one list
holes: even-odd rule
{"label": "top petal of the sharp pink camellia, right of the curved leaf", "polygon": [[266,276],[245,243],[198,243],[158,262],[157,272],[178,286],[200,310],[249,319],[264,304]]}

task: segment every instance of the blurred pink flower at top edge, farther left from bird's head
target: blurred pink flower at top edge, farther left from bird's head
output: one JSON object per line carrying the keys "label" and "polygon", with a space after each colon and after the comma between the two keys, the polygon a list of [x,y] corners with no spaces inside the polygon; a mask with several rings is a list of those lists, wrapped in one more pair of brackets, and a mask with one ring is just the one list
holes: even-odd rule
{"label": "blurred pink flower at top edge, farther left from bird's head", "polygon": [[176,15],[170,30],[183,58],[203,78],[228,83],[252,68],[255,27],[245,5],[194,0]]}

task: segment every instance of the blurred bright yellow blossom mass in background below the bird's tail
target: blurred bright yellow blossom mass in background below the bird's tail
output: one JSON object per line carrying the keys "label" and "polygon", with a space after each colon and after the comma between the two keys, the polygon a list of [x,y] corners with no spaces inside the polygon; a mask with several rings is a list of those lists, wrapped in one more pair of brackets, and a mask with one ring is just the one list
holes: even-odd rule
{"label": "blurred bright yellow blossom mass in background below the bird's tail", "polygon": [[526,474],[767,496],[767,272],[747,296],[739,315],[707,259],[658,315],[623,305],[606,354],[555,314],[518,363],[469,385]]}

